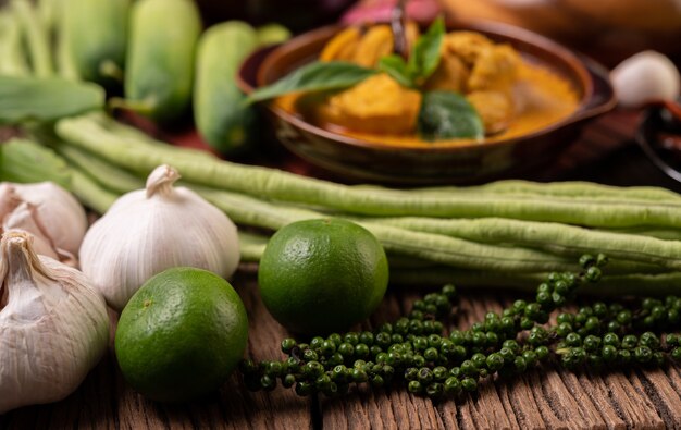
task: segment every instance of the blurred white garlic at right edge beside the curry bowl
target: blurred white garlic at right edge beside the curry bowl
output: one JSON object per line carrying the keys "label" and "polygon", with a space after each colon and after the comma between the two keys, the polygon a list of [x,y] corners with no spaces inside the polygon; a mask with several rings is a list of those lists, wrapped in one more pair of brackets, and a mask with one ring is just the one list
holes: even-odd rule
{"label": "blurred white garlic at right edge beside the curry bowl", "polygon": [[681,87],[677,66],[656,51],[639,52],[622,61],[610,72],[610,79],[618,101],[624,108],[673,100]]}

